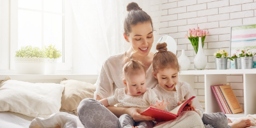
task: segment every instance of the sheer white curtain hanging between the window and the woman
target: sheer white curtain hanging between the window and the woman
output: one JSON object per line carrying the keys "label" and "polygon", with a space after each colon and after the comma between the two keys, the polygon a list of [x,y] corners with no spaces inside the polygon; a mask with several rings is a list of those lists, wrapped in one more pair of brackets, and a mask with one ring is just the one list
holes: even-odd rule
{"label": "sheer white curtain hanging between the window and the woman", "polygon": [[72,0],[73,74],[99,74],[104,60],[124,52],[123,0]]}

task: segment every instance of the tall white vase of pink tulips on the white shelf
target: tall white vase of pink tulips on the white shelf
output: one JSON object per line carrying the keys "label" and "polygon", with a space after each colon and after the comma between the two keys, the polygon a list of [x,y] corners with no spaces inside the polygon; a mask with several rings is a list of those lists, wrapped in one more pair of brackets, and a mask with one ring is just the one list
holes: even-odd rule
{"label": "tall white vase of pink tulips on the white shelf", "polygon": [[188,38],[191,44],[194,47],[196,56],[194,58],[195,68],[197,70],[204,70],[207,64],[207,56],[203,52],[204,40],[205,37],[209,34],[209,31],[197,29],[189,29],[188,35],[185,35],[185,38]]}

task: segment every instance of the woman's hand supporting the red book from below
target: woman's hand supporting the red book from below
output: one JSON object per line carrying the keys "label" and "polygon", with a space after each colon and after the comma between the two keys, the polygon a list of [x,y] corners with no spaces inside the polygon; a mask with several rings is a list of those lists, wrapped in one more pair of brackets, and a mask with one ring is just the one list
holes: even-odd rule
{"label": "woman's hand supporting the red book from below", "polygon": [[155,120],[150,116],[140,115],[142,110],[140,108],[127,108],[127,114],[132,116],[135,122],[143,121],[143,120]]}

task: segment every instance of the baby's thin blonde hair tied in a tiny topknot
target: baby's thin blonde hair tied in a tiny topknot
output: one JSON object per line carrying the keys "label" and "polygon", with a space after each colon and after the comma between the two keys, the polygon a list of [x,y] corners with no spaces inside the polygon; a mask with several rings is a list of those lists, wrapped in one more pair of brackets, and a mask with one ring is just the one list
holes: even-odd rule
{"label": "baby's thin blonde hair tied in a tiny topknot", "polygon": [[143,70],[143,72],[146,75],[145,66],[138,60],[132,60],[133,54],[134,54],[134,52],[131,54],[131,56],[125,56],[125,58],[124,58],[124,62],[125,62],[125,65],[123,67],[123,77],[124,78],[126,76],[128,76],[129,74],[140,74],[141,70]]}

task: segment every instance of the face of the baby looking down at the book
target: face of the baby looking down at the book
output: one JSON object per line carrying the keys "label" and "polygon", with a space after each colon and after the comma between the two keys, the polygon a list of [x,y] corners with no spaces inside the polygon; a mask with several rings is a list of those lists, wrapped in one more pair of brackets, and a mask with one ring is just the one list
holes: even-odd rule
{"label": "face of the baby looking down at the book", "polygon": [[125,77],[124,84],[128,89],[127,95],[139,96],[147,90],[145,73],[129,74]]}

